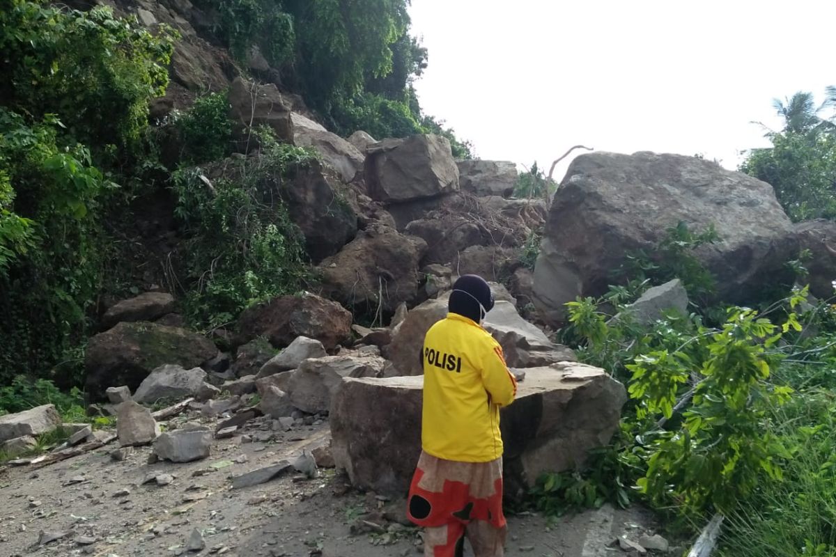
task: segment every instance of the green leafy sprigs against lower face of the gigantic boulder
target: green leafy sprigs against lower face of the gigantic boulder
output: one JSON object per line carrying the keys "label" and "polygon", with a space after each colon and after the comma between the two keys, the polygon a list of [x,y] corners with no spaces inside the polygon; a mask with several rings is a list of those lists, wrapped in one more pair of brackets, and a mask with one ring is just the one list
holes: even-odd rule
{"label": "green leafy sprigs against lower face of the gigantic boulder", "polygon": [[691,300],[704,306],[714,293],[716,281],[694,255],[700,246],[720,240],[713,225],[706,230],[692,232],[685,222],[666,230],[665,237],[652,252],[639,250],[627,254],[627,263],[617,275],[627,276],[634,281],[650,280],[657,284],[678,278],[688,291]]}

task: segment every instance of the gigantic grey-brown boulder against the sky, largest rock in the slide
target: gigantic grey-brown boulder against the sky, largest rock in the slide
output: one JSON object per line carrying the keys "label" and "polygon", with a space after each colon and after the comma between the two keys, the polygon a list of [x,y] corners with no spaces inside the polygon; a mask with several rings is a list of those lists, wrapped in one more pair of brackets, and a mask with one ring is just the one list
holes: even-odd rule
{"label": "gigantic grey-brown boulder against the sky, largest rock in the slide", "polygon": [[720,240],[696,256],[716,278],[714,301],[753,303],[793,281],[793,225],[772,187],[678,154],[582,154],[554,195],[534,272],[535,304],[553,324],[568,301],[599,296],[632,252],[654,255],[668,230],[713,225]]}

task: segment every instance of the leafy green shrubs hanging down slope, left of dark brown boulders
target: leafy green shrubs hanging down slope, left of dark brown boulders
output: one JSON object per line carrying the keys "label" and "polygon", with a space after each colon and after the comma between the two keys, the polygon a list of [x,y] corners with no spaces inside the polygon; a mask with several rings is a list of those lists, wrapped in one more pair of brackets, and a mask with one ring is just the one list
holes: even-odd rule
{"label": "leafy green shrubs hanging down slope, left of dark brown boulders", "polygon": [[217,327],[247,306],[298,291],[307,276],[303,241],[275,188],[313,156],[273,144],[212,188],[199,169],[176,172],[175,212],[191,235],[187,263],[196,283],[186,295],[191,322]]}

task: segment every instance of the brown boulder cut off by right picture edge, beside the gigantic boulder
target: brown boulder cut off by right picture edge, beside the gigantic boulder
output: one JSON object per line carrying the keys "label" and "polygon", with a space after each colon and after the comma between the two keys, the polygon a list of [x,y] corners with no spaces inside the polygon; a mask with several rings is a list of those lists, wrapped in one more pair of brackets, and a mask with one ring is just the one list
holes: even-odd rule
{"label": "brown boulder cut off by right picture edge, beside the gigantic boulder", "polygon": [[817,219],[795,225],[800,249],[809,250],[811,258],[804,261],[810,293],[822,300],[836,294],[836,222]]}

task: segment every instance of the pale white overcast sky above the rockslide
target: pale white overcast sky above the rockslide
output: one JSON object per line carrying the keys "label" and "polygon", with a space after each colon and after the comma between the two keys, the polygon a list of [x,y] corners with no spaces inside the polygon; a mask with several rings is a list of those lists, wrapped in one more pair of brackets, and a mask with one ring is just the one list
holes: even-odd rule
{"label": "pale white overcast sky above the rockslide", "polygon": [[[836,2],[412,0],[427,114],[481,159],[548,165],[573,144],[701,153],[737,168],[772,99],[836,84]],[[560,165],[555,178],[563,178]]]}

